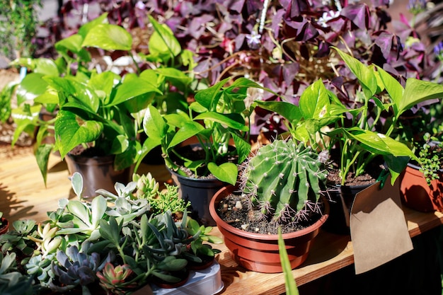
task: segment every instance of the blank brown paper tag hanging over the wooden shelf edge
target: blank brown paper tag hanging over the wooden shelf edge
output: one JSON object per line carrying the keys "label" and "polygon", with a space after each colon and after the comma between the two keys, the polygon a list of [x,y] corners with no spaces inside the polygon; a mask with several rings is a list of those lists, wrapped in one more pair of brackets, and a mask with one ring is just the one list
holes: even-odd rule
{"label": "blank brown paper tag hanging over the wooden shelf edge", "polygon": [[386,179],[357,193],[351,209],[350,231],[354,248],[355,273],[361,274],[397,258],[410,250],[405,215],[397,180]]}

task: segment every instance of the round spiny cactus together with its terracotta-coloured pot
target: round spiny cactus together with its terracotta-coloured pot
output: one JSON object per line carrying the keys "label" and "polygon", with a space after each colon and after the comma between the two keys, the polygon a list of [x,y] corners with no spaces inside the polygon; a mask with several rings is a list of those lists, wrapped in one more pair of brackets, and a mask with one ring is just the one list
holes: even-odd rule
{"label": "round spiny cactus together with its terracotta-coloured pot", "polygon": [[282,272],[277,229],[282,228],[291,267],[306,260],[311,241],[328,218],[327,156],[293,139],[277,139],[248,158],[238,187],[219,190],[209,210],[239,265]]}

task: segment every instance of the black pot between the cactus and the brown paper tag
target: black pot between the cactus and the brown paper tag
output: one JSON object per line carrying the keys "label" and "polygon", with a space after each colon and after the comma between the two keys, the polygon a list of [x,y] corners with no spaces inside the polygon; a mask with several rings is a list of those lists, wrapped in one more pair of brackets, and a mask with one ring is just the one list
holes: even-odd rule
{"label": "black pot between the cactus and the brown paper tag", "polygon": [[349,220],[355,195],[370,185],[335,185],[335,187],[328,189],[327,198],[330,212],[322,229],[339,235],[350,235]]}

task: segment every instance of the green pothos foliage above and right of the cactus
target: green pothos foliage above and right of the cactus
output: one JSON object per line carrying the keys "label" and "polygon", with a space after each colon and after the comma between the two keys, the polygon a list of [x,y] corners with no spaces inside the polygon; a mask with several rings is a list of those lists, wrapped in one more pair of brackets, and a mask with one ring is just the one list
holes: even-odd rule
{"label": "green pothos foliage above and right of the cactus", "polygon": [[[386,161],[393,184],[410,158],[417,160],[405,143],[391,137],[395,135],[399,117],[417,103],[442,97],[443,87],[414,78],[407,79],[403,87],[379,66],[366,66],[349,54],[335,50],[357,77],[362,88],[361,103],[353,108],[344,105],[319,80],[306,88],[299,105],[263,101],[257,104],[286,118],[295,139],[316,149],[338,149],[341,185],[345,185],[349,173],[366,172],[367,165],[378,156]],[[370,109],[376,113],[375,120],[368,120]],[[386,113],[389,119],[382,124],[381,115]]]}

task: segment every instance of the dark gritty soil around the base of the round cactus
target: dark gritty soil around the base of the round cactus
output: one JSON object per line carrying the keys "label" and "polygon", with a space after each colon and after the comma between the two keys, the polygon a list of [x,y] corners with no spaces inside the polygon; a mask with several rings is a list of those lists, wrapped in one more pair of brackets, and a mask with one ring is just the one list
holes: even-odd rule
{"label": "dark gritty soil around the base of the round cactus", "polygon": [[299,231],[311,226],[321,217],[321,214],[317,213],[309,216],[309,220],[288,224],[260,219],[260,210],[251,208],[249,199],[236,193],[224,197],[219,203],[217,212],[221,219],[236,229],[263,234],[277,234],[280,226],[282,227],[282,233]]}

